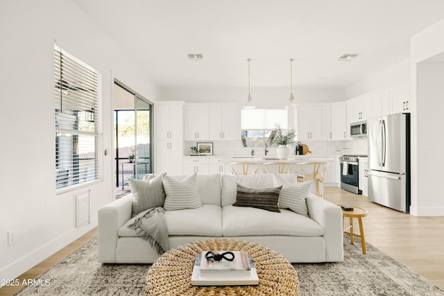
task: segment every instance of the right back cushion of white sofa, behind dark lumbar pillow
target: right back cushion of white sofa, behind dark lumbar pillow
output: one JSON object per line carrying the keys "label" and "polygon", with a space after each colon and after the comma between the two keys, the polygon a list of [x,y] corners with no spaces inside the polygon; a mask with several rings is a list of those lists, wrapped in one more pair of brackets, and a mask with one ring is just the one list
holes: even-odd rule
{"label": "right back cushion of white sofa, behind dark lumbar pillow", "polygon": [[224,207],[228,204],[234,204],[234,202],[236,202],[237,183],[254,189],[272,188],[273,175],[271,174],[241,175],[241,176],[223,175],[221,183],[222,183],[221,205],[222,207]]}

